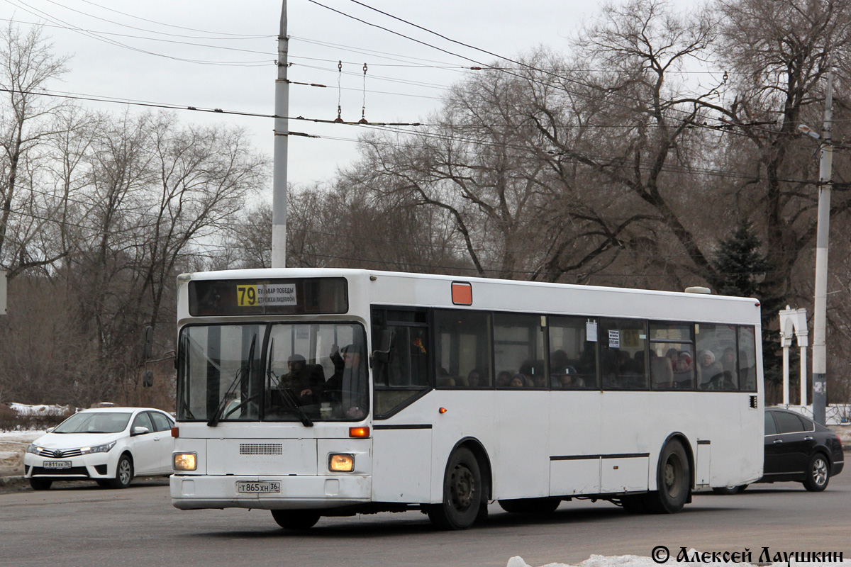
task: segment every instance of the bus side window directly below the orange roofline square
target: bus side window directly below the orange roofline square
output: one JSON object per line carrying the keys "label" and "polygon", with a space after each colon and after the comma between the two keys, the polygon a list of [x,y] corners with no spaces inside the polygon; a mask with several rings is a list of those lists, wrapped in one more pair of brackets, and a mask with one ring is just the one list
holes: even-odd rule
{"label": "bus side window directly below the orange roofline square", "polygon": [[490,386],[490,314],[437,309],[434,326],[437,388]]}

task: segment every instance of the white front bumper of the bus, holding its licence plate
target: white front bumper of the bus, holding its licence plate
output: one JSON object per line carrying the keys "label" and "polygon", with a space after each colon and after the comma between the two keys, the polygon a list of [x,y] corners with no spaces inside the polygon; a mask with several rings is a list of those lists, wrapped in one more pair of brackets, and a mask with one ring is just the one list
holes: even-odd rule
{"label": "white front bumper of the bus, holding its licence plate", "polygon": [[[279,492],[244,493],[243,483],[280,483]],[[333,508],[370,502],[368,476],[177,475],[170,480],[171,503],[180,510]]]}

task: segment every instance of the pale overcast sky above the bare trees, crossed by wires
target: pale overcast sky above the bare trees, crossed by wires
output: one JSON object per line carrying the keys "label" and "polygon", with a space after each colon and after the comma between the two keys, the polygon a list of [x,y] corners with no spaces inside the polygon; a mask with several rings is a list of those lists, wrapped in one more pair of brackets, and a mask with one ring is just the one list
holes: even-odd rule
{"label": "pale overcast sky above the bare trees, crossed by wires", "polygon": [[[392,20],[351,0],[288,0],[289,79],[327,88],[292,85],[289,116],[370,122],[420,122],[440,105],[464,67],[494,58]],[[545,45],[568,50],[568,37],[599,9],[598,0],[368,0],[369,6],[477,48],[516,57]],[[0,18],[21,26],[41,22],[57,54],[71,54],[70,71],[55,91],[133,99],[197,108],[271,115],[280,0],[0,0]],[[353,20],[384,26],[444,53]],[[5,23],[5,22],[4,22]],[[343,73],[338,61],[343,61]],[[364,93],[363,64],[368,66]],[[226,64],[226,65],[223,65]],[[338,88],[338,80],[340,88]],[[121,112],[141,107],[89,108]],[[214,121],[248,128],[254,145],[271,158],[271,118],[177,111],[183,122]],[[357,156],[362,127],[289,124],[291,131],[321,139],[291,137],[288,180],[311,184],[328,179]]]}

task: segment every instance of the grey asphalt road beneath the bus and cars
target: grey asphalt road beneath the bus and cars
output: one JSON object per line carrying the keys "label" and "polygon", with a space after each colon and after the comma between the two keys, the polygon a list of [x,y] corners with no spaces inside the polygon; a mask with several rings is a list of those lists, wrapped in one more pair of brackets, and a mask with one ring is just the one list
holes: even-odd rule
{"label": "grey asphalt road beneath the bus and cars", "polygon": [[431,527],[421,513],[321,519],[310,531],[277,527],[262,510],[181,512],[165,479],[127,490],[54,484],[0,494],[0,564],[217,567],[488,565],[521,556],[535,567],[579,564],[591,554],[649,556],[664,545],[744,552],[842,552],[851,559],[851,474],[825,492],[797,483],[753,485],[740,495],[700,493],[682,513],[630,515],[608,502],[564,502],[546,518],[490,508],[471,530]]}

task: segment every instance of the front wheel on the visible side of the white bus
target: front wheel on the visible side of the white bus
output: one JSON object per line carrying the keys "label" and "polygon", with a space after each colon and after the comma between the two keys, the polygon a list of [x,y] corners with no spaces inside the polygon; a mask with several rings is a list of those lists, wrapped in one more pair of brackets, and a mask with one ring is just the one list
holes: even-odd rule
{"label": "front wheel on the visible side of the white bus", "polygon": [[476,456],[459,447],[449,456],[443,475],[443,502],[426,510],[441,530],[466,530],[477,519],[483,503],[482,472]]}

